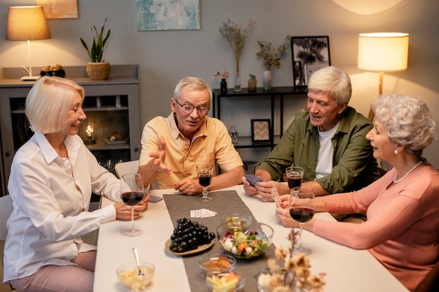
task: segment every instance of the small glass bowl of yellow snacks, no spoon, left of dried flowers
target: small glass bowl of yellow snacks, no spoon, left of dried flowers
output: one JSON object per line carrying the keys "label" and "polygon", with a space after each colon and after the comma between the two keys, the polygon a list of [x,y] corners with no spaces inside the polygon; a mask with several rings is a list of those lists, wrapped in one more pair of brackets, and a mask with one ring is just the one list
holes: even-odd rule
{"label": "small glass bowl of yellow snacks, no spoon, left of dried flowers", "polygon": [[219,274],[209,273],[205,277],[210,291],[214,292],[239,292],[245,285],[245,278],[241,272],[231,271]]}

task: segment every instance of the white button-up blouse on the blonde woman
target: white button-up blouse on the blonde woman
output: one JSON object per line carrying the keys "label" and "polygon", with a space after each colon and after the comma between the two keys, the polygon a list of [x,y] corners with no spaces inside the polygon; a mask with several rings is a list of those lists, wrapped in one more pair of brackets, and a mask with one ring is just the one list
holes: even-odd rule
{"label": "white button-up blouse on the blonde woman", "polygon": [[114,221],[109,205],[88,211],[91,193],[120,199],[120,180],[101,167],[78,135],[67,136],[69,158],[61,158],[41,133],[15,154],[8,191],[13,212],[4,249],[4,281],[32,275],[43,265],[74,265],[70,260],[95,246],[81,235]]}

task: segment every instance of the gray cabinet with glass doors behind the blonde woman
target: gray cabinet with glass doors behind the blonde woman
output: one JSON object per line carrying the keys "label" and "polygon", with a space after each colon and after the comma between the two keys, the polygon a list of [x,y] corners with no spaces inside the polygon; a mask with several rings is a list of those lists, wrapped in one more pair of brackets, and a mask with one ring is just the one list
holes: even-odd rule
{"label": "gray cabinet with glass doors behind the blonde woman", "polygon": [[[66,78],[76,81],[86,92],[83,109],[87,120],[94,120],[99,131],[96,143],[87,146],[97,160],[103,166],[111,162],[111,168],[119,161],[139,159],[142,134],[139,66],[112,65],[112,73],[105,81],[88,78],[86,67],[64,69]],[[25,117],[25,99],[34,81],[20,81],[23,74],[20,68],[4,68],[0,74],[0,184],[2,194],[6,194],[13,156],[33,135]],[[113,132],[124,139],[110,141]]]}

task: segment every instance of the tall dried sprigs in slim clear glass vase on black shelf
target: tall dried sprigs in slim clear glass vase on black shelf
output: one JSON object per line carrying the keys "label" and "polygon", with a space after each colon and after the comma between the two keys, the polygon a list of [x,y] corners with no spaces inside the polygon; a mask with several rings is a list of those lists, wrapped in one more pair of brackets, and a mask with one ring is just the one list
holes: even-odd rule
{"label": "tall dried sprigs in slim clear glass vase on black shelf", "polygon": [[250,39],[250,34],[255,29],[256,22],[254,20],[249,20],[247,27],[241,27],[241,25],[236,24],[227,20],[227,22],[222,22],[221,27],[219,27],[219,33],[222,39],[226,40],[231,46],[231,50],[234,51],[235,64],[236,64],[236,78],[235,78],[235,91],[241,91],[241,78],[239,77],[239,60],[241,59],[241,54],[243,53],[245,43]]}

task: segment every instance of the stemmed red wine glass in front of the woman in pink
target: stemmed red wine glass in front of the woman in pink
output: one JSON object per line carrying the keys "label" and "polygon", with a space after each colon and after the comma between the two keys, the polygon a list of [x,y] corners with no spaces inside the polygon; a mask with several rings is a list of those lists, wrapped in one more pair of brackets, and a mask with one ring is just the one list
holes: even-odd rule
{"label": "stemmed red wine glass in front of the woman in pink", "polygon": [[316,210],[316,204],[314,202],[314,192],[312,188],[305,186],[299,186],[292,188],[290,195],[290,215],[300,225],[299,243],[297,244],[296,252],[302,252],[310,254],[311,249],[302,246],[302,230],[304,223],[313,218]]}

